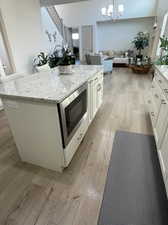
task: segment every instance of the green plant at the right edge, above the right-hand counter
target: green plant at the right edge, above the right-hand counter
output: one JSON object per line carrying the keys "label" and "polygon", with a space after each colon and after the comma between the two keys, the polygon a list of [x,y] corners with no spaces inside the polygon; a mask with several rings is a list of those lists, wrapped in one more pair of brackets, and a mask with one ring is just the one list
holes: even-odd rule
{"label": "green plant at the right edge, above the right-hand counter", "polygon": [[168,65],[168,38],[166,36],[160,37],[161,54],[156,61],[157,65]]}

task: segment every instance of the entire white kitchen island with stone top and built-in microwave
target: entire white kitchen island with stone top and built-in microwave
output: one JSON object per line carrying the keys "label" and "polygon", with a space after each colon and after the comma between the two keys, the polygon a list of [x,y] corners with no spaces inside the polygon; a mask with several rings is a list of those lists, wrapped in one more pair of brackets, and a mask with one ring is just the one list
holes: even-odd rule
{"label": "entire white kitchen island with stone top and built-in microwave", "polygon": [[62,171],[101,106],[103,68],[25,75],[3,82],[0,97],[22,161]]}

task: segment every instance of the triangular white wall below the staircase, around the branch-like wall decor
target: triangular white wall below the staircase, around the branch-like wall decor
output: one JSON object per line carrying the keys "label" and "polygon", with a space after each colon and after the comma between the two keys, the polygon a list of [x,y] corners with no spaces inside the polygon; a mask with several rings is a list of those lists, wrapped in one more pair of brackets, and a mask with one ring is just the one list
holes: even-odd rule
{"label": "triangular white wall below the staircase, around the branch-like wall decor", "polygon": [[[47,51],[50,52],[53,50],[55,45],[62,45],[63,38],[60,35],[56,25],[53,23],[51,17],[49,16],[46,8],[44,7],[41,8],[41,17],[42,17],[43,33],[44,33],[45,41],[47,44]],[[57,33],[56,43],[54,43],[53,38],[52,38],[52,42],[49,41],[46,31],[48,31],[51,34],[54,34],[55,32]]]}

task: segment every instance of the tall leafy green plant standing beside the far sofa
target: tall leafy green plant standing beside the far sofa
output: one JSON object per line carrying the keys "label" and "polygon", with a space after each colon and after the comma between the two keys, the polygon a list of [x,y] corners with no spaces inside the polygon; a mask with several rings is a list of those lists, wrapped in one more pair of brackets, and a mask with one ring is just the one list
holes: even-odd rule
{"label": "tall leafy green plant standing beside the far sofa", "polygon": [[132,43],[134,44],[134,47],[138,51],[138,55],[136,58],[140,59],[142,61],[143,55],[142,55],[142,50],[144,50],[146,47],[149,46],[149,33],[146,32],[139,32],[137,36],[134,38]]}

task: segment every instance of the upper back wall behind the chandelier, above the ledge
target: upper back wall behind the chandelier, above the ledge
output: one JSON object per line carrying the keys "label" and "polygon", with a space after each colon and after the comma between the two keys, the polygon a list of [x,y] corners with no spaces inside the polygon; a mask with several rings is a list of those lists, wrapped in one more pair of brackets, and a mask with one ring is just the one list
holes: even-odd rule
{"label": "upper back wall behind the chandelier, above the ledge", "polygon": [[[118,0],[118,3],[123,3],[125,6],[123,18],[138,18],[154,16],[156,14],[156,1],[157,0]],[[109,0],[91,0],[57,5],[56,9],[66,26],[77,27],[96,24],[97,21],[104,20],[101,16],[101,8],[108,3]]]}

